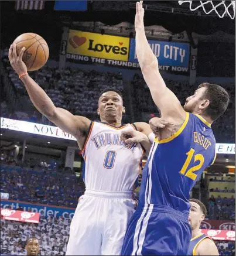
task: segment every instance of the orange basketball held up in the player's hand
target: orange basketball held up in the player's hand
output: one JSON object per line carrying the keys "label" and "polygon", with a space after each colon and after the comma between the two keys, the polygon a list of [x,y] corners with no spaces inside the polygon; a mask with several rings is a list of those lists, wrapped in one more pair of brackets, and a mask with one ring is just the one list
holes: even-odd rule
{"label": "orange basketball held up in the player's hand", "polygon": [[28,71],[35,71],[43,67],[49,59],[49,47],[43,37],[35,33],[22,34],[14,40],[16,51],[19,55],[22,47],[25,47],[22,60]]}

